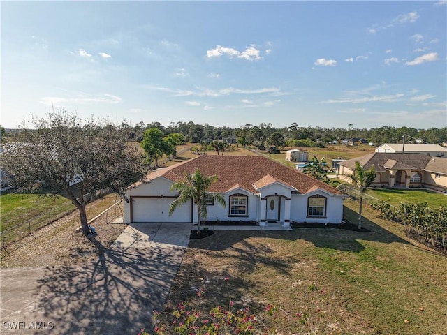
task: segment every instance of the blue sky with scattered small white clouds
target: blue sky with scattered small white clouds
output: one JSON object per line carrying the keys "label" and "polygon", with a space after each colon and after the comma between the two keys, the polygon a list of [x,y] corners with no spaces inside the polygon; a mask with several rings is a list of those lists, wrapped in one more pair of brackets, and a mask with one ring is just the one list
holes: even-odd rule
{"label": "blue sky with scattered small white clouds", "polygon": [[1,1],[1,124],[447,126],[446,1]]}

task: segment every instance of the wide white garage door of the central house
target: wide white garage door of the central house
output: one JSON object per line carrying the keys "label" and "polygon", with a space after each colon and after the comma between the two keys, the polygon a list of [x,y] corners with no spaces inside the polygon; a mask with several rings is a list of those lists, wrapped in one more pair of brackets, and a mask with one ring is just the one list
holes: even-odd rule
{"label": "wide white garage door of the central house", "polygon": [[174,198],[132,198],[133,222],[191,222],[191,202],[169,216]]}

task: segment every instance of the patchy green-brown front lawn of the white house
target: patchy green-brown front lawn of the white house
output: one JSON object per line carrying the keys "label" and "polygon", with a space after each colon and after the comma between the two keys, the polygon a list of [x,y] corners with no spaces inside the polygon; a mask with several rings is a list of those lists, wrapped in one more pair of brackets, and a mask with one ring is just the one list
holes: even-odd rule
{"label": "patchy green-brown front lawn of the white house", "polygon": [[[355,221],[358,202],[346,200]],[[168,299],[200,310],[229,301],[279,334],[446,334],[447,262],[407,239],[404,227],[365,207],[371,232],[298,228],[292,232],[216,231],[191,240]],[[229,280],[225,281],[224,278]],[[318,290],[310,291],[316,283]],[[302,324],[306,315],[307,322]]]}

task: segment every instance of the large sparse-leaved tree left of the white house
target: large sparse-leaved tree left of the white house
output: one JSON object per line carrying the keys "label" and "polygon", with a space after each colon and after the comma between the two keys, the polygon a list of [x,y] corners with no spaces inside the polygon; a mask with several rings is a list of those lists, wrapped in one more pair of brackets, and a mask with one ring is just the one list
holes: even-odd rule
{"label": "large sparse-leaved tree left of the white house", "polygon": [[88,193],[110,188],[124,196],[127,186],[144,176],[138,149],[127,142],[128,127],[108,121],[83,122],[76,114],[50,112],[22,126],[20,148],[3,155],[1,165],[17,191],[59,194],[78,209],[89,233],[85,207]]}

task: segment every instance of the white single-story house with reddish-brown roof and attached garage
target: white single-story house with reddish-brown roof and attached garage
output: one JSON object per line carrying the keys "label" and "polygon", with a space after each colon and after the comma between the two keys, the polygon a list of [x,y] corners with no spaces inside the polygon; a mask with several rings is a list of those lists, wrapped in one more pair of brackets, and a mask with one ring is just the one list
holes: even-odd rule
{"label": "white single-story house with reddish-brown roof and attached garage", "polygon": [[149,174],[149,183],[126,191],[124,219],[132,222],[197,222],[192,202],[168,215],[177,193],[170,186],[199,169],[219,178],[210,193],[225,195],[226,207],[209,204],[208,221],[341,223],[346,195],[306,174],[262,156],[199,156]]}

